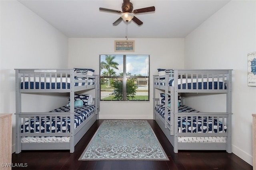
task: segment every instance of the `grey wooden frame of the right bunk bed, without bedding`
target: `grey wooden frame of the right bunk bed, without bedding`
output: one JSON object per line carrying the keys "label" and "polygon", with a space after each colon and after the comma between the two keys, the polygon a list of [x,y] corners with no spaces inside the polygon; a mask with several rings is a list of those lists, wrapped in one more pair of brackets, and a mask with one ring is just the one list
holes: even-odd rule
{"label": "grey wooden frame of the right bunk bed, without bedding", "polygon": [[[231,147],[231,129],[232,129],[232,70],[174,70],[174,86],[169,86],[168,84],[168,77],[169,74],[166,74],[164,76],[153,76],[153,83],[154,83],[154,90],[153,90],[153,110],[154,110],[154,120],[158,123],[172,146],[174,147],[174,152],[178,153],[178,150],[226,150],[228,153],[232,153],[232,147]],[[186,84],[186,87],[188,87],[188,82],[190,78],[194,78],[194,83],[198,84],[198,82],[201,82],[203,78],[206,79],[207,84],[209,82],[212,82],[212,87],[214,86],[213,81],[217,81],[218,87],[217,89],[209,89],[209,86],[207,85],[207,89],[198,89],[198,85],[196,86],[196,89],[187,89],[182,88],[180,86],[180,89],[178,88],[178,79],[180,79],[181,82]],[[165,78],[165,86],[160,85],[160,78]],[[201,79],[202,78],[202,79]],[[216,80],[213,80],[213,79]],[[183,79],[183,80],[182,80]],[[223,80],[223,89],[220,89],[219,82]],[[224,88],[224,80],[226,84],[226,89]],[[165,105],[165,119],[161,117],[161,115],[154,109],[156,104],[158,104],[159,98],[156,98],[156,89],[162,90],[165,92],[165,101],[168,101],[168,95],[170,95],[170,106],[168,107]],[[224,113],[185,113],[185,112],[178,112],[178,106],[176,104],[178,99],[178,93],[219,93],[219,94],[226,94],[226,112]],[[175,104],[174,104],[175,102]],[[168,110],[170,110],[170,121],[168,120]],[[193,132],[178,132],[178,117],[182,119],[182,117],[212,117],[220,120],[225,123],[227,127],[226,133],[224,130],[222,132],[217,131],[217,133],[209,133],[208,130],[206,133],[198,131]],[[198,126],[198,125],[196,125]],[[224,127],[223,127],[224,128]],[[186,128],[188,129],[188,128]],[[198,127],[196,127],[198,129]],[[207,128],[208,129],[208,128]],[[183,143],[178,142],[178,137],[226,137],[226,143]]]}

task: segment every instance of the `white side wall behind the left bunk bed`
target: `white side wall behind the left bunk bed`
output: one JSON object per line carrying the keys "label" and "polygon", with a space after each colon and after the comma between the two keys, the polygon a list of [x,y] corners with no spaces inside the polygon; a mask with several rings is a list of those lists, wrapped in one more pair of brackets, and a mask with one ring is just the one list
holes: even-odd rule
{"label": "white side wall behind the left bunk bed", "polygon": [[[68,38],[16,0],[0,1],[0,113],[15,113],[14,68],[67,68]],[[22,95],[22,111],[63,106],[63,94]],[[15,151],[15,116],[12,116]]]}

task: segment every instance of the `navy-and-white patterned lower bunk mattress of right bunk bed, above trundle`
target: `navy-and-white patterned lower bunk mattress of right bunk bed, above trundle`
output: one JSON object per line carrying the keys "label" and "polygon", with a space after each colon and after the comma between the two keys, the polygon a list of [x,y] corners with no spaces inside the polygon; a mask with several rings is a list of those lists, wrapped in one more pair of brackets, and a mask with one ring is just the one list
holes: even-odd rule
{"label": "navy-and-white patterned lower bunk mattress of right bunk bed, above trundle", "polygon": [[[155,110],[165,119],[165,109],[162,105],[156,105]],[[182,105],[178,108],[178,112],[199,112],[195,109],[192,109],[191,107],[188,107],[186,105]],[[168,120],[170,121],[170,112],[168,112]],[[182,125],[182,126],[181,126]],[[197,129],[196,129],[197,127]],[[203,116],[203,117],[182,117],[182,120],[180,117],[178,117],[178,133],[182,131],[182,133],[186,133],[186,130],[188,133],[191,131],[193,133],[206,133],[207,130],[209,133],[212,131],[214,133],[222,133],[222,130],[226,132],[227,127],[222,124],[222,122],[218,121],[217,119],[209,116]]]}

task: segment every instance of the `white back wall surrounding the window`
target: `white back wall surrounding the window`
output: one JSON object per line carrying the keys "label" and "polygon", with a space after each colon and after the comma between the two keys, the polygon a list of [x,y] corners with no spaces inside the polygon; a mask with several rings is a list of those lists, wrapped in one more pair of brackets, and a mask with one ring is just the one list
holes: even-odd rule
{"label": "white back wall surrounding the window", "polygon": [[[99,74],[99,55],[114,52],[114,38],[70,38],[70,68],[93,68]],[[150,78],[157,68],[184,68],[184,39],[129,39],[135,41],[135,51],[129,54],[150,55]],[[163,62],[164,61],[164,62]],[[153,88],[150,81],[150,102],[100,102],[100,119],[153,119]]]}

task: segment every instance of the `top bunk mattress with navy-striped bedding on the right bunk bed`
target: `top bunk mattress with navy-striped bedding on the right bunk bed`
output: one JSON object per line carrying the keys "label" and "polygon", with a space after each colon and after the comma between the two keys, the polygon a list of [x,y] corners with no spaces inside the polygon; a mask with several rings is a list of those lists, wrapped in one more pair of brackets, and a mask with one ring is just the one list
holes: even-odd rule
{"label": "top bunk mattress with navy-striped bedding on the right bunk bed", "polygon": [[[174,86],[174,79],[168,80],[169,86]],[[159,82],[155,82],[155,85],[160,85],[160,86],[165,86],[166,80],[159,80]],[[223,80],[222,78],[182,78],[178,79],[178,89],[181,88],[182,84],[182,89],[223,89]],[[212,88],[213,84],[213,88]],[[224,84],[224,88],[226,89],[226,84]],[[197,87],[198,86],[198,87]],[[203,87],[202,87],[203,86]],[[207,87],[208,86],[208,87]],[[219,87],[218,87],[219,86]]]}

